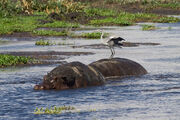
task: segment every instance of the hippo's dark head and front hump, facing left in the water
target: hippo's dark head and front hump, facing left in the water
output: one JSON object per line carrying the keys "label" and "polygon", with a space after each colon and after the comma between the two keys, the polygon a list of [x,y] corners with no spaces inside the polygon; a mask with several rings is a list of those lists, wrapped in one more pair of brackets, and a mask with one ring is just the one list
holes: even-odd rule
{"label": "hippo's dark head and front hump, facing left in the water", "polygon": [[105,83],[101,73],[91,66],[80,62],[71,62],[54,68],[44,76],[43,83],[36,85],[35,90],[72,89],[87,86],[97,86]]}

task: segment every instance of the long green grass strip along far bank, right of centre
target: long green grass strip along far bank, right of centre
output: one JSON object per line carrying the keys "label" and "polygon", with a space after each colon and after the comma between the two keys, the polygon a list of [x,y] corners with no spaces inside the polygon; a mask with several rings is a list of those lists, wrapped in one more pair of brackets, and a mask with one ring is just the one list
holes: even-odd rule
{"label": "long green grass strip along far bank, right of centre", "polygon": [[158,23],[175,23],[180,21],[180,19],[175,17],[166,17],[155,14],[148,13],[127,13],[121,12],[116,18],[108,17],[100,20],[91,20],[90,25],[119,25],[119,26],[129,26],[136,22],[158,22]]}

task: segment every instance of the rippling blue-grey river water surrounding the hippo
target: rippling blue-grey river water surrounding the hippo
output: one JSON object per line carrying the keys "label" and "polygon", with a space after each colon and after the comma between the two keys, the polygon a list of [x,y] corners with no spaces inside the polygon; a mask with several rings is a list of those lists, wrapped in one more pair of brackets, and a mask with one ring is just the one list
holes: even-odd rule
{"label": "rippling blue-grey river water surrounding the hippo", "polygon": [[[143,65],[148,74],[128,77],[98,87],[63,91],[35,91],[43,75],[57,65],[0,69],[1,120],[179,120],[180,119],[180,23],[155,24],[161,29],[142,31],[140,25],[104,27],[128,42],[155,42],[158,46],[116,48],[116,57]],[[171,29],[168,29],[171,27]],[[88,29],[88,31],[91,31]],[[93,31],[93,30],[92,30]],[[83,31],[79,31],[83,32]],[[85,31],[86,32],[86,31]],[[62,38],[47,38],[63,41]],[[76,45],[97,44],[99,40],[73,39]],[[18,47],[17,47],[18,46]],[[73,49],[70,46],[35,46],[34,41],[17,41],[0,46],[4,51],[87,51],[94,55],[67,59],[89,64],[108,58],[109,49]],[[75,111],[57,115],[35,115],[36,107],[74,106]]]}

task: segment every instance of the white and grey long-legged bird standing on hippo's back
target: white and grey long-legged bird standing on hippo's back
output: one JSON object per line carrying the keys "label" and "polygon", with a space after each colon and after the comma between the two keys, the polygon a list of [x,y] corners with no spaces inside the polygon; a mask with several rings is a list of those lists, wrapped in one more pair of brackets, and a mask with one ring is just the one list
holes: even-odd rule
{"label": "white and grey long-legged bird standing on hippo's back", "polygon": [[111,56],[109,57],[109,59],[112,59],[115,55],[114,47],[118,46],[121,48],[123,46],[122,41],[125,41],[125,39],[122,37],[114,37],[114,36],[110,36],[108,39],[103,39],[104,32],[102,30],[100,31],[101,31],[101,38],[100,38],[101,42],[110,48]]}

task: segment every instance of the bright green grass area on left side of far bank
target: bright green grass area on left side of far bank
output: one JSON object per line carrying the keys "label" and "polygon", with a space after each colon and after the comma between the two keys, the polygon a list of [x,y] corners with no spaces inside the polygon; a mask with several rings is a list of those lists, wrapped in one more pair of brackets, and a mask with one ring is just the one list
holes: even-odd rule
{"label": "bright green grass area on left side of far bank", "polygon": [[63,32],[54,31],[36,31],[39,27],[59,27],[59,28],[78,28],[79,24],[72,24],[64,21],[54,21],[42,25],[38,20],[46,20],[46,16],[16,16],[8,18],[0,18],[0,35],[12,34],[14,32],[32,32],[36,35],[47,34],[55,36],[65,36]]}

